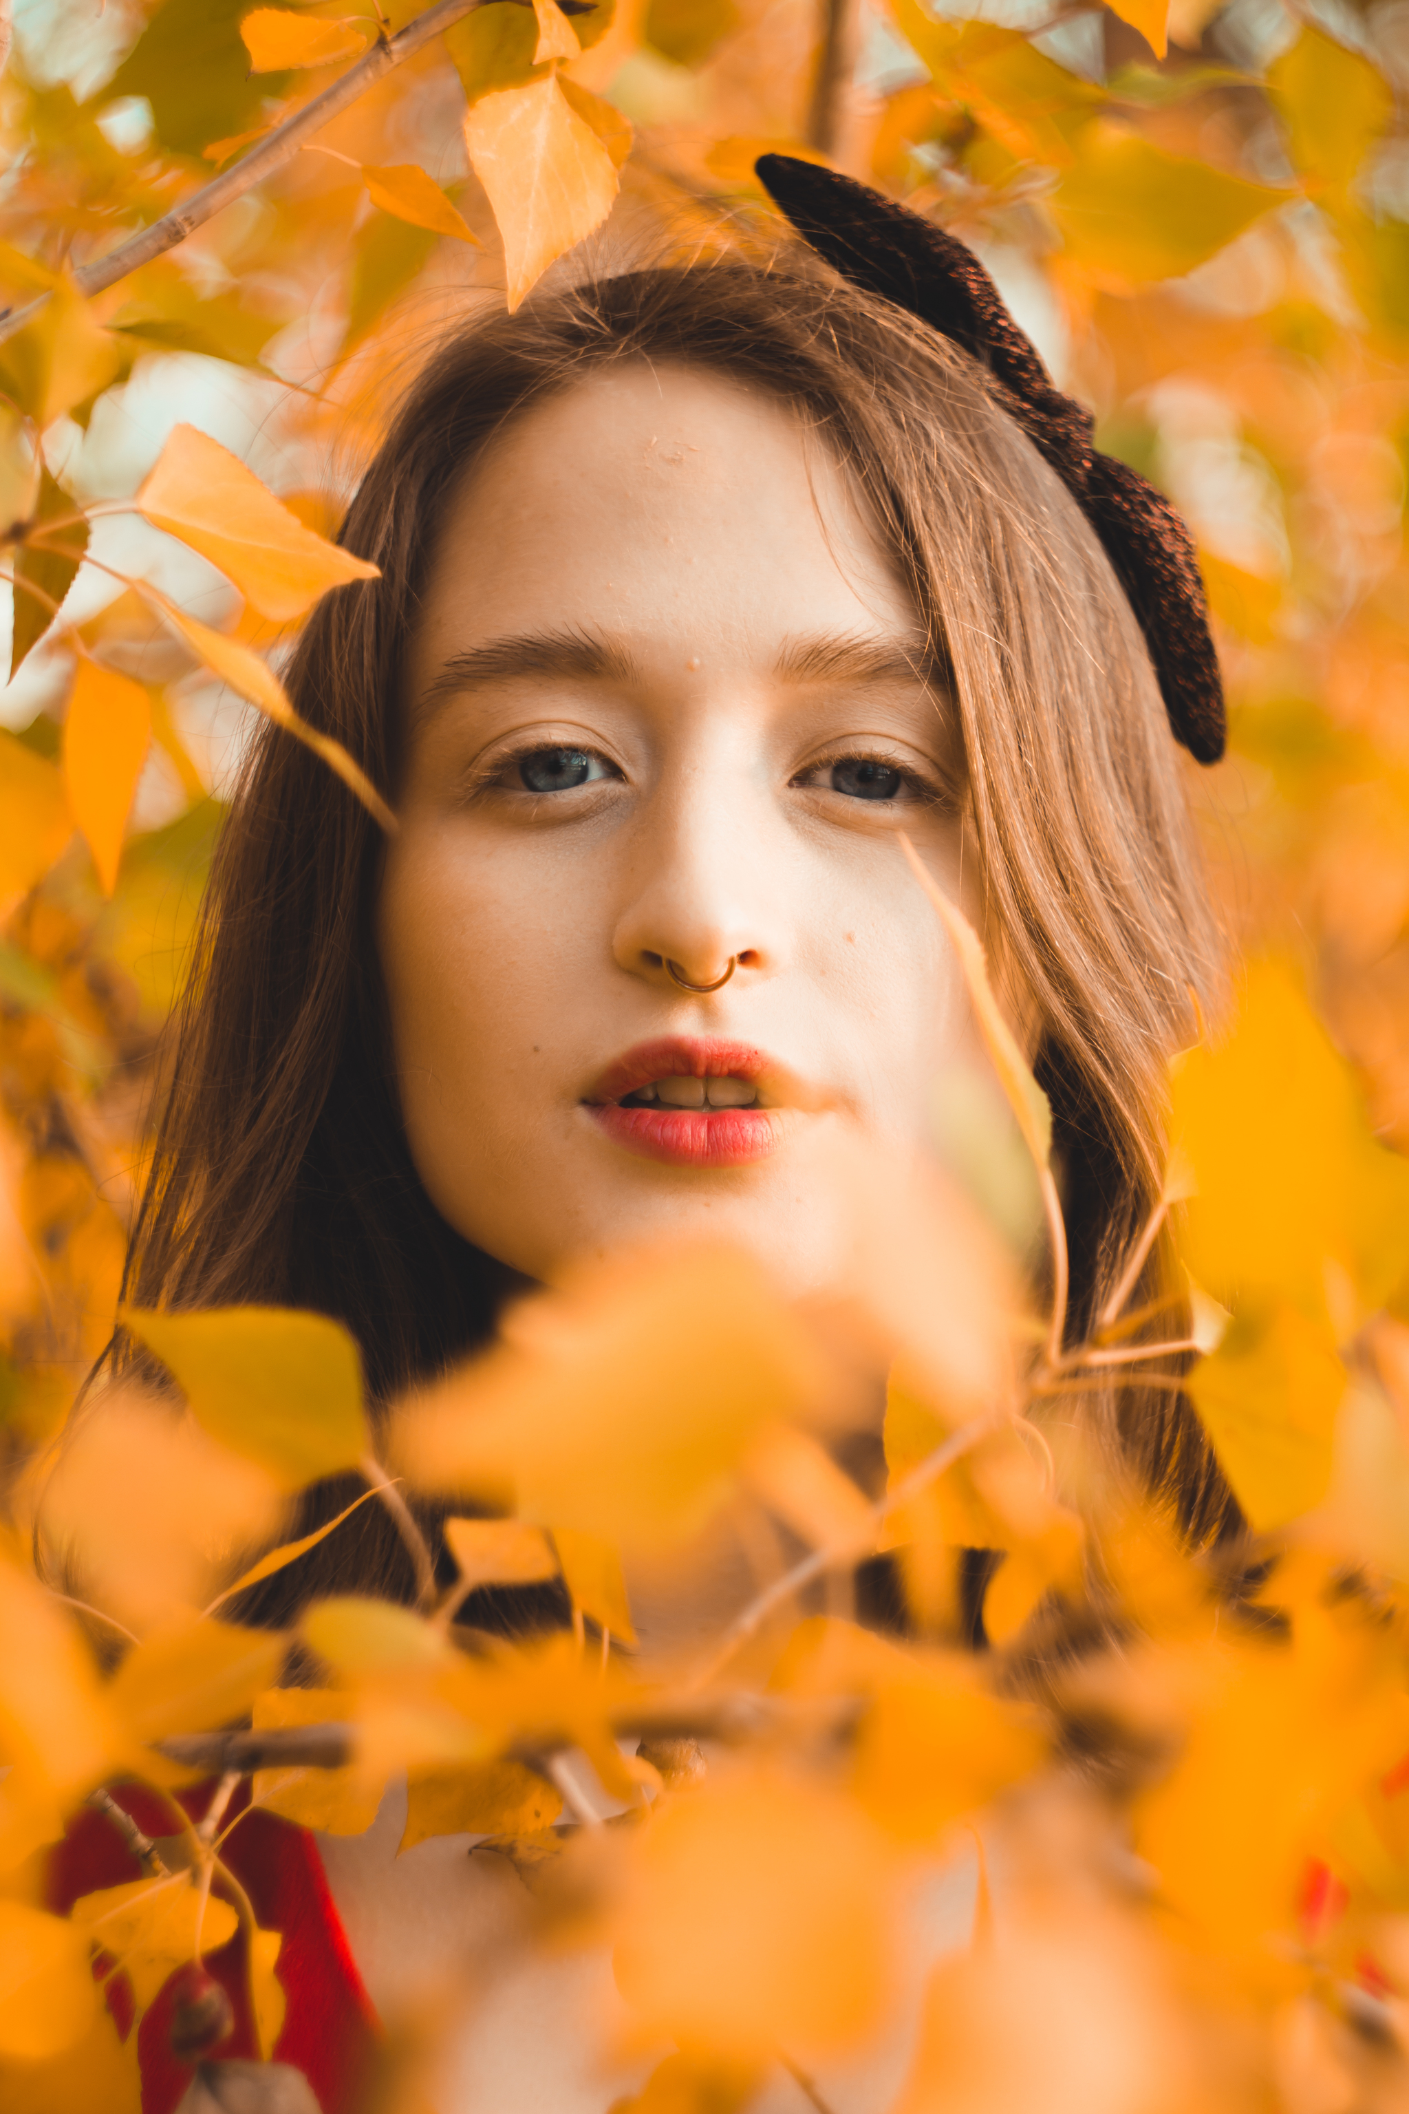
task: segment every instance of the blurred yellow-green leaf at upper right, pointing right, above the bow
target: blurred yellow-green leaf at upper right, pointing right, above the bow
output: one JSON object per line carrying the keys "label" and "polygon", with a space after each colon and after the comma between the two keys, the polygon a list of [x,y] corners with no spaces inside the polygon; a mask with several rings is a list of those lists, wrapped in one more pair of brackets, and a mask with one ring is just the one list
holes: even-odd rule
{"label": "blurred yellow-green leaf at upper right, pointing right, above the bow", "polygon": [[1050,209],[1067,254],[1122,290],[1183,277],[1289,197],[1098,118],[1084,129]]}

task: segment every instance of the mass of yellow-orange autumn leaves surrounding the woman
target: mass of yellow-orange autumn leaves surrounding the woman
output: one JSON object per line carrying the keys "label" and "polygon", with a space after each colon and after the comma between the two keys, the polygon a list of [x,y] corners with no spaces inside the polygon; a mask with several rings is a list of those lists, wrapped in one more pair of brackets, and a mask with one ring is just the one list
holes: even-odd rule
{"label": "mass of yellow-orange autumn leaves surrounding the woman", "polygon": [[[277,2057],[283,1932],[230,1831],[355,1835],[406,1778],[406,1852],[488,1843],[526,1955],[610,1960],[575,2027],[623,2080],[602,2108],[1409,2108],[1409,8],[340,6],[4,11],[0,2103],[135,2110],[156,2019],[218,2103],[226,1947],[243,2053]],[[332,1321],[131,1313],[171,1389],[57,1457],[222,791],[256,715],[308,731],[277,649],[368,573],[338,465],[467,290],[518,304],[627,220],[767,237],[767,148],[970,241],[1198,533],[1232,753],[1196,799],[1248,968],[1175,1070],[1147,1228],[1194,1334],[1115,1306],[1063,1351],[955,1199],[862,1184],[856,1328],[896,1372],[870,1484],[845,1345],[712,1249],[528,1300],[376,1435]],[[1122,1361],[1198,1406],[1232,1552],[1039,1429]],[[224,1619],[334,1473],[395,1514],[418,1605]],[[30,1562],[40,1488],[70,1598]],[[699,1602],[720,1537],[754,1581],[708,1649],[638,1638],[634,1581]],[[858,1619],[885,1552],[906,1640]],[[501,1588],[560,1619],[492,1636]],[[129,1877],[59,1915],[84,1805]],[[378,2106],[452,2103],[475,1998],[384,2021]],[[296,2103],[260,2076],[251,2106]]]}

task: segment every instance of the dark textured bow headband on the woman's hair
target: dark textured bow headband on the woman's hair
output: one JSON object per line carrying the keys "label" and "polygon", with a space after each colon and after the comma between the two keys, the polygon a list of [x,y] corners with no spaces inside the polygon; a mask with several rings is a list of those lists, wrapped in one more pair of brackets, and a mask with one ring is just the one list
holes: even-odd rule
{"label": "dark textured bow headband on the woman's hair", "polygon": [[1001,385],[1003,408],[1048,459],[1115,569],[1160,679],[1175,738],[1200,763],[1223,755],[1223,679],[1194,539],[1164,493],[1092,444],[1088,410],[1052,385],[972,249],[877,190],[790,154],[760,154],[760,182],[843,279],[953,338]]}

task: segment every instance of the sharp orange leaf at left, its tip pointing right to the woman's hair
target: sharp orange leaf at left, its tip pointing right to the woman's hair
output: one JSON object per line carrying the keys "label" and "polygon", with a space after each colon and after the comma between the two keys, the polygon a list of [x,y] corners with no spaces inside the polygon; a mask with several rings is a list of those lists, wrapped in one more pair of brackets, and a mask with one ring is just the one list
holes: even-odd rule
{"label": "sharp orange leaf at left, its tip pointing right to the woman's hair", "polygon": [[365,558],[304,528],[239,455],[194,425],[171,429],[135,505],[220,567],[277,624],[302,617],[330,588],[378,577]]}

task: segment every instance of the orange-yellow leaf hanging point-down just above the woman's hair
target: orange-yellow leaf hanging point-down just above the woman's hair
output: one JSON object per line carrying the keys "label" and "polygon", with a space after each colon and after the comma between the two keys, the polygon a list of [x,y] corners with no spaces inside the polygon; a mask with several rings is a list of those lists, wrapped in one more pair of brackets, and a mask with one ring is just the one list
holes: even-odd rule
{"label": "orange-yellow leaf hanging point-down just above the woman's hair", "polygon": [[465,112],[469,163],[505,243],[509,309],[613,209],[617,169],[549,74]]}

